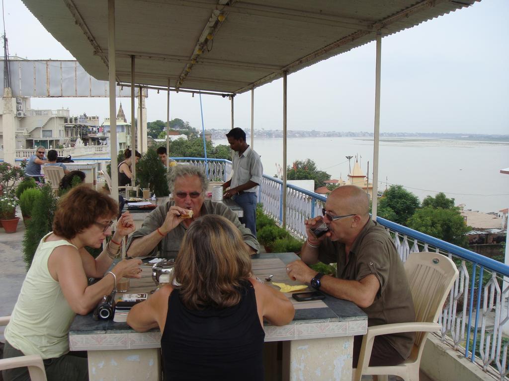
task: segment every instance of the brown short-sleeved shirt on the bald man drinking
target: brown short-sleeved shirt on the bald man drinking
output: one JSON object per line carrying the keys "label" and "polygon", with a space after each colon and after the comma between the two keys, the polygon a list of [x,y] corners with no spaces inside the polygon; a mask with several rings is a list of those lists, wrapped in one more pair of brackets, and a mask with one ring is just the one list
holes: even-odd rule
{"label": "brown short-sleeved shirt on the bald man drinking", "polygon": [[[398,252],[390,235],[375,221],[369,220],[350,249],[346,263],[345,244],[329,238],[322,241],[318,259],[323,263],[337,262],[337,277],[361,280],[373,274],[380,289],[373,304],[362,310],[367,314],[367,325],[415,322],[415,311],[408,280]],[[403,358],[410,356],[414,333],[385,335],[385,338]]]}

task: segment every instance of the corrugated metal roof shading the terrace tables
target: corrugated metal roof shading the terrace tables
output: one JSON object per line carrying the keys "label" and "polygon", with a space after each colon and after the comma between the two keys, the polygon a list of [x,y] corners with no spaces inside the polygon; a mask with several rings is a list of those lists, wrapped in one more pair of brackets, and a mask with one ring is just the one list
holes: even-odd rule
{"label": "corrugated metal roof shading the terrace tables", "polygon": [[[240,93],[475,1],[117,1],[117,78],[130,82],[134,55],[139,84]],[[107,1],[23,2],[89,74],[108,79]]]}

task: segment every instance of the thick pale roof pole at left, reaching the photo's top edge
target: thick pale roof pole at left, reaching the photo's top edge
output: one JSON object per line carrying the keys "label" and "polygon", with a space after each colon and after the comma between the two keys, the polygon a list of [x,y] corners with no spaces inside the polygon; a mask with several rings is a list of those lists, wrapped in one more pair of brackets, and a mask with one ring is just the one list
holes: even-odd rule
{"label": "thick pale roof pole at left, reaching the photo's top edge", "polygon": [[117,170],[117,103],[115,65],[115,0],[108,0],[108,80],[109,80],[109,149],[111,154],[111,197],[119,199],[119,171]]}

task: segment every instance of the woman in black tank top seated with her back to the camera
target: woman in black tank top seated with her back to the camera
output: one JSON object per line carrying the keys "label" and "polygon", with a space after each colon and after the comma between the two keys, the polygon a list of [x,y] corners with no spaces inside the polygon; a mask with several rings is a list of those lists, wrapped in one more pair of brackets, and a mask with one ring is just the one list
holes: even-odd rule
{"label": "woman in black tank top seated with her back to the camera", "polygon": [[252,278],[241,234],[224,217],[196,219],[177,258],[180,285],[164,285],[127,317],[136,331],[160,328],[164,380],[263,380],[263,320],[288,324],[292,303]]}

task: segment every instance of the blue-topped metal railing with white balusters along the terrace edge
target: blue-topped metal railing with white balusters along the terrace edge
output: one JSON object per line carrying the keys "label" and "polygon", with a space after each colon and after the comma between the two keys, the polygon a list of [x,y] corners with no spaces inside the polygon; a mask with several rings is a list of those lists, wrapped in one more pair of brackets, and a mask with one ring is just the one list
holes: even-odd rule
{"label": "blue-topped metal railing with white balusters along the terrace edge", "polygon": [[[204,159],[201,157],[172,158],[178,162],[189,162],[193,165],[204,166]],[[90,157],[74,158],[73,160],[109,161],[110,158]],[[210,171],[214,171],[214,174],[220,172],[224,181],[228,179],[232,170],[232,163],[229,160],[209,158],[207,162],[209,164],[216,163],[216,166],[219,166],[218,168],[209,166]],[[208,173],[208,175],[210,176],[211,173]],[[290,214],[293,216],[290,219],[287,217],[287,229],[295,235],[302,236],[305,234],[305,231],[302,230],[304,219],[320,214],[320,208],[317,208],[317,206],[323,206],[327,198],[291,184],[287,184],[285,191],[287,192],[288,200],[287,216]],[[282,192],[284,192],[284,189],[282,189],[282,181],[280,179],[263,175],[259,200],[264,204],[264,211],[276,219],[278,223],[281,223],[282,219]],[[296,199],[299,199],[299,201],[295,202]],[[461,260],[461,265],[458,266],[460,278],[451,290],[449,302],[444,306],[440,317],[443,327],[441,331],[442,340],[445,340],[445,335],[447,334],[454,341],[453,347],[463,352],[464,356],[469,357],[472,362],[475,362],[475,348],[479,343],[479,352],[482,354],[480,362],[482,362],[484,370],[486,371],[491,363],[496,362],[496,370],[500,379],[504,379],[509,362],[502,359],[502,357],[506,356],[509,343],[502,345],[500,338],[502,336],[503,324],[507,320],[502,313],[507,313],[503,309],[503,305],[508,304],[506,301],[509,297],[509,288],[501,290],[499,283],[501,282],[501,277],[509,277],[509,266],[463,247],[393,223],[385,218],[377,217],[377,222],[393,234],[394,244],[397,245],[403,261],[406,260],[411,252],[428,251],[430,246],[431,249],[443,255]],[[412,239],[413,245],[410,246],[409,242]],[[466,270],[466,263],[472,264],[470,271]],[[487,281],[483,277],[486,272],[491,273],[491,278]],[[460,282],[461,286],[458,286]],[[463,289],[463,287],[465,288]],[[482,290],[484,290],[484,294]],[[468,292],[470,292],[470,295],[468,295]],[[475,292],[477,293],[477,299],[474,301]],[[457,310],[459,301],[463,302],[463,311]],[[487,326],[486,324],[489,314],[495,314],[495,325],[493,327],[488,327],[489,325]],[[483,322],[480,330],[481,338],[486,336],[486,342],[483,339],[478,339],[479,320]],[[462,328],[460,329],[459,326]],[[464,334],[465,328],[466,336]],[[471,337],[472,344],[470,344]],[[490,345],[489,341],[491,339],[492,344]],[[463,344],[464,349],[461,349]],[[484,349],[485,345],[486,348]]]}

